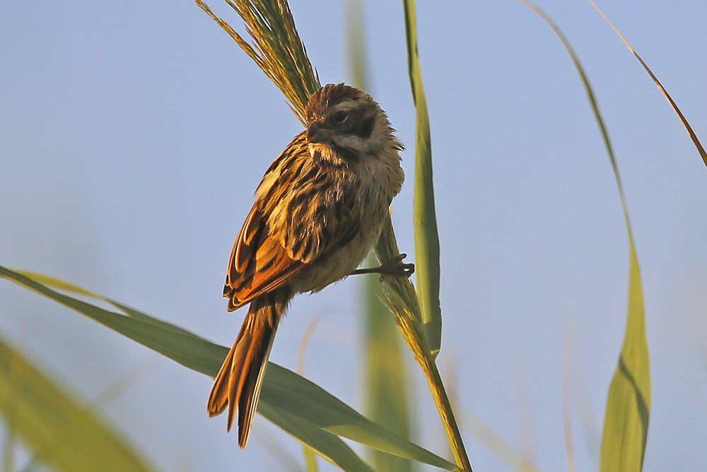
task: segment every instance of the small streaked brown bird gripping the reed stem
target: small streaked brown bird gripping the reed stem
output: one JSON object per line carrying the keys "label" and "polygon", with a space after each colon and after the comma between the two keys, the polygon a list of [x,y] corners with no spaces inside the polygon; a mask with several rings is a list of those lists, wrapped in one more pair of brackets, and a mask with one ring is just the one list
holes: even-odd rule
{"label": "small streaked brown bird gripping the reed stem", "polygon": [[351,273],[400,273],[401,256],[376,269],[355,269],[378,240],[404,175],[397,140],[370,95],[339,83],[307,105],[308,129],[265,172],[228,263],[228,311],[250,309],[209,396],[209,415],[238,407],[245,447],[275,332],[292,297],[318,292]]}

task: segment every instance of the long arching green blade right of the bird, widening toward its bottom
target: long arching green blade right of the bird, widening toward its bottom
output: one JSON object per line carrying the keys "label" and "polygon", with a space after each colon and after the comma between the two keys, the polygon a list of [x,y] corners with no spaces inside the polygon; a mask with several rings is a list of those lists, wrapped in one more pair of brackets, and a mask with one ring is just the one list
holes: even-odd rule
{"label": "long arching green blade right of the bird, widening toward its bottom", "polygon": [[[528,0],[519,0],[543,18],[554,30],[566,47],[584,84],[597,124],[599,124],[607,148],[609,160],[614,169],[621,206],[626,219],[626,231],[629,235],[629,314],[626,321],[624,346],[619,356],[619,366],[614,373],[609,387],[602,451],[601,472],[638,472],[643,468],[645,440],[648,437],[648,418],[650,416],[650,362],[648,359],[648,341],[645,338],[645,310],[643,307],[643,288],[641,271],[638,268],[638,256],[633,242],[633,231],[626,206],[624,186],[621,184],[619,166],[614,156],[614,148],[609,140],[609,132],[597,105],[594,92],[582,65],[572,46],[560,28],[547,14]],[[591,1],[591,0],[590,0]]]}

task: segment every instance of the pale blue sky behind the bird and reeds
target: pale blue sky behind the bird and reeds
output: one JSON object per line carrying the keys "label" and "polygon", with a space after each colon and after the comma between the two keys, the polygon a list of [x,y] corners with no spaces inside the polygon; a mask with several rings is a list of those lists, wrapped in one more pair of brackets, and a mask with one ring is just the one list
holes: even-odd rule
{"label": "pale blue sky behind the bird and reeds", "polygon": [[[237,16],[211,1],[221,16]],[[583,61],[612,136],[643,271],[653,408],[645,471],[707,462],[707,169],[665,98],[583,1],[539,3]],[[600,4],[707,139],[707,4]],[[293,0],[323,83],[345,81],[344,4]],[[601,427],[624,334],[626,228],[583,88],[518,2],[420,1],[433,136],[443,348],[460,403],[542,471],[566,468],[562,362]],[[412,254],[414,108],[402,4],[366,2],[370,92],[408,146],[394,203]],[[264,170],[301,125],[279,90],[187,0],[0,4],[0,264],[84,285],[230,345],[228,255]],[[359,283],[298,297],[271,360],[361,406]],[[85,399],[146,366],[105,415],[163,471],[279,470],[255,425],[238,450],[206,416],[210,380],[92,321],[0,284],[0,333]],[[346,374],[355,367],[356,374]],[[423,389],[420,441],[443,451]],[[578,470],[592,470],[573,413]],[[258,433],[258,430],[260,432]],[[532,438],[525,431],[532,431]],[[293,453],[295,442],[275,435]],[[521,439],[521,438],[526,439]],[[467,435],[474,470],[510,470]]]}

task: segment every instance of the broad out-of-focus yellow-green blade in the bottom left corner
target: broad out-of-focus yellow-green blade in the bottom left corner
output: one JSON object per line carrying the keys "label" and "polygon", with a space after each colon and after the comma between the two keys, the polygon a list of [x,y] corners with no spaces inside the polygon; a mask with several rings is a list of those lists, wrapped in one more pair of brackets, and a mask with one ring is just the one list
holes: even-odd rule
{"label": "broad out-of-focus yellow-green blade in the bottom left corner", "polygon": [[0,338],[0,413],[45,464],[66,472],[150,471],[136,452]]}

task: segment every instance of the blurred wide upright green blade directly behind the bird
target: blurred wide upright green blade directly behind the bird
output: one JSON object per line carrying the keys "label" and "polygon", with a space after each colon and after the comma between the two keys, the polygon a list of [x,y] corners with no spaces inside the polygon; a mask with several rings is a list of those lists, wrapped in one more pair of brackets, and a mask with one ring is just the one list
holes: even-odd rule
{"label": "blurred wide upright green blade directly behind the bird", "polygon": [[[370,92],[366,67],[362,0],[346,0],[346,30],[349,50],[351,85]],[[366,266],[375,266],[375,255],[368,255]],[[409,379],[402,355],[402,345],[390,310],[383,305],[380,277],[363,276],[363,297],[366,307],[363,330],[363,353],[366,356],[365,399],[366,415],[375,423],[410,439]],[[409,459],[385,452],[372,452],[373,466],[378,471],[411,472]]]}

